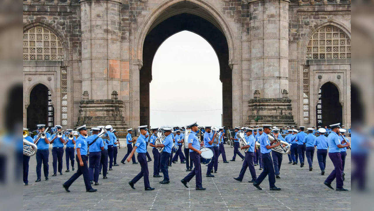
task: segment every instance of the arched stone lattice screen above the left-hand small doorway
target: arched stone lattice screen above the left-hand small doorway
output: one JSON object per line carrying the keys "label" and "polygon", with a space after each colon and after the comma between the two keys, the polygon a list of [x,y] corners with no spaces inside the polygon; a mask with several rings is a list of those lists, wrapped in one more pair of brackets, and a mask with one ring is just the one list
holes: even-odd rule
{"label": "arched stone lattice screen above the left-hand small doorway", "polygon": [[24,61],[58,61],[64,59],[64,49],[57,36],[37,26],[23,34]]}

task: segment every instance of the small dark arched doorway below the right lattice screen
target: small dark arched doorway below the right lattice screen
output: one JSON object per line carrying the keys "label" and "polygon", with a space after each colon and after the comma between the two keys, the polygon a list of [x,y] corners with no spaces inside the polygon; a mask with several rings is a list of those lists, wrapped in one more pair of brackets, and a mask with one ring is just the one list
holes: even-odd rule
{"label": "small dark arched doorway below the right lattice screen", "polygon": [[339,102],[339,90],[331,82],[325,83],[319,89],[316,112],[317,126],[342,123],[343,111]]}

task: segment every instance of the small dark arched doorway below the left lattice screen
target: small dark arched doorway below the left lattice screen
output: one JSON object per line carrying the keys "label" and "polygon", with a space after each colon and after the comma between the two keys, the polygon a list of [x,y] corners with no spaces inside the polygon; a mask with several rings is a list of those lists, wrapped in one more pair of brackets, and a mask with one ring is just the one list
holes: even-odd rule
{"label": "small dark arched doorway below the left lattice screen", "polygon": [[37,124],[54,125],[54,108],[50,90],[43,84],[36,85],[30,92],[30,105],[27,107],[27,128],[34,130]]}

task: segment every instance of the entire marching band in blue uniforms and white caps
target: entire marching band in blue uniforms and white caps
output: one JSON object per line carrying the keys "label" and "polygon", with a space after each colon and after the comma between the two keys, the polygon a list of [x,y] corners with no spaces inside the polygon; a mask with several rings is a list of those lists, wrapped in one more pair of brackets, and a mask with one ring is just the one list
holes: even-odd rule
{"label": "entire marching band in blue uniforms and white caps", "polygon": [[[74,155],[77,162],[77,171],[71,178],[63,184],[67,192],[69,187],[80,175],[83,179],[87,192],[96,192],[97,189],[92,188],[92,184],[99,185],[99,174],[102,172],[102,179],[107,179],[108,160],[109,171],[113,170],[113,166],[118,166],[116,162],[117,147],[119,139],[116,130],[111,125],[92,127],[89,131],[86,125],[78,127],[76,130],[67,129],[62,131],[62,126],[56,125],[51,129],[52,135],[47,133],[48,128],[45,124],[37,125],[36,135],[31,138],[28,135],[28,129],[24,129],[24,183],[28,185],[28,163],[30,157],[36,155],[36,174],[37,180],[41,181],[41,168],[45,180],[49,175],[49,144],[52,144],[53,157],[53,175],[57,172],[62,175],[62,158],[65,147],[66,167],[65,172],[74,171]],[[289,128],[289,127],[288,127]],[[246,169],[249,169],[252,183],[257,189],[261,182],[268,176],[270,190],[281,190],[275,186],[276,179],[281,179],[280,169],[283,160],[283,154],[288,154],[289,164],[297,165],[300,161],[300,167],[304,166],[305,155],[309,165],[309,171],[313,170],[313,157],[315,147],[317,148],[318,165],[321,169],[321,175],[325,173],[327,155],[331,159],[334,170],[324,181],[329,188],[332,181],[336,178],[335,190],[347,191],[343,188],[344,181],[344,164],[347,148],[350,149],[349,140],[344,136],[347,132],[340,127],[340,123],[330,125],[329,134],[324,128],[315,130],[299,126],[296,130],[293,126],[291,129],[285,130],[270,124],[263,124],[262,127],[235,127],[234,131],[225,130],[225,127],[206,126],[199,127],[195,122],[186,127],[157,127],[150,128],[147,126],[139,126],[137,128],[138,137],[133,137],[134,130],[128,129],[126,142],[127,154],[121,160],[132,164],[140,163],[141,171],[136,175],[129,185],[135,189],[135,184],[142,177],[144,180],[145,190],[154,190],[150,186],[148,162],[152,161],[147,152],[148,144],[152,147],[153,154],[153,177],[163,177],[160,184],[170,183],[169,166],[178,162],[186,164],[186,177],[181,183],[188,188],[187,184],[195,177],[196,190],[205,190],[202,186],[202,164],[207,166],[206,177],[215,177],[212,173],[218,171],[218,157],[222,155],[223,163],[229,163],[226,160],[224,144],[226,140],[234,149],[232,162],[236,160],[236,156],[242,158],[243,165],[239,176],[234,180],[242,182]],[[283,138],[280,132],[287,131],[287,135]],[[225,133],[226,132],[226,133]],[[225,136],[227,134],[227,137]],[[316,136],[318,135],[318,136]],[[76,138],[78,136],[78,138]],[[183,148],[183,150],[182,150]],[[240,153],[243,150],[245,155]],[[137,152],[137,160],[135,159],[135,151]],[[174,156],[173,156],[174,154]],[[70,163],[69,163],[70,161]],[[70,165],[69,165],[70,164]],[[255,166],[259,165],[262,170],[257,177]],[[163,176],[159,173],[162,172]]]}

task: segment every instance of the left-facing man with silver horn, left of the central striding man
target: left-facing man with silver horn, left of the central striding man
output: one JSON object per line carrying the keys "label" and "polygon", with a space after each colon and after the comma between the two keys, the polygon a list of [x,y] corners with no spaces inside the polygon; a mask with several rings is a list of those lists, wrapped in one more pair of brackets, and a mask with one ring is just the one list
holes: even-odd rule
{"label": "left-facing man with silver horn, left of the central striding man", "polygon": [[163,147],[163,151],[161,153],[160,157],[160,167],[162,174],[164,176],[163,180],[160,181],[161,184],[168,184],[170,183],[169,179],[169,172],[168,172],[168,163],[169,163],[169,158],[171,155],[171,147],[173,146],[173,136],[171,133],[171,128],[165,127],[163,128],[164,130],[164,135],[166,138],[163,140],[162,144],[157,144],[156,147]]}

